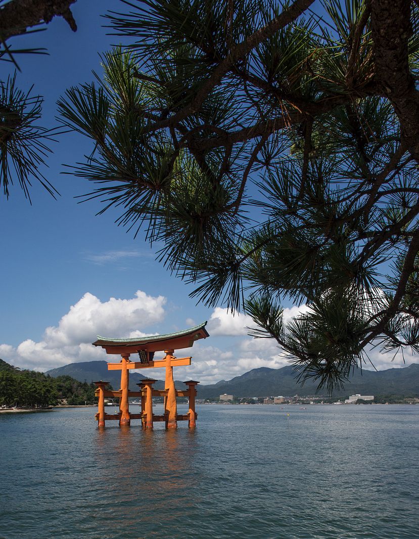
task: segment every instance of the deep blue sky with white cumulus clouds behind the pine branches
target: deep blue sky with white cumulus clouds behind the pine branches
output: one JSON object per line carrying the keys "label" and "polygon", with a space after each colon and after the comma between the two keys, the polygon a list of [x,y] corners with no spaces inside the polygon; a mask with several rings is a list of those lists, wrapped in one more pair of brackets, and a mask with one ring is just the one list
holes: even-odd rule
{"label": "deep blue sky with white cumulus clouds behind the pine branches", "polygon": [[[98,53],[117,39],[102,27],[106,22],[101,15],[107,9],[125,8],[117,0],[79,0],[72,8],[76,33],[55,18],[46,31],[12,43],[48,49],[48,56],[17,57],[22,70],[18,86],[29,89],[34,84],[33,92],[44,96],[42,125],[57,125],[55,103],[69,86],[92,80],[92,70],[100,72]],[[3,63],[2,68],[5,78],[8,65]],[[67,133],[51,148],[49,168],[43,173],[60,192],[57,200],[36,182],[32,206],[18,186],[11,188],[9,201],[0,197],[0,357],[19,367],[45,370],[105,359],[101,350],[89,344],[97,333],[107,331],[105,336],[115,337],[138,331],[169,333],[209,320],[212,336],[195,345],[193,364],[185,376],[209,383],[253,367],[285,364],[277,357],[275,343],[246,336],[246,317],[233,319],[225,309],[195,306],[188,298],[193,287],[171,277],[143,238],[134,239],[133,233],[114,224],[117,211],[96,217],[99,202],[77,203],[74,197],[86,194],[89,185],[62,171],[64,163],[72,164],[89,153],[86,139]],[[136,295],[137,291],[141,293]],[[296,312],[296,308],[287,310],[287,315]],[[402,361],[397,358],[390,365],[389,358],[377,355],[375,364],[387,368]]]}

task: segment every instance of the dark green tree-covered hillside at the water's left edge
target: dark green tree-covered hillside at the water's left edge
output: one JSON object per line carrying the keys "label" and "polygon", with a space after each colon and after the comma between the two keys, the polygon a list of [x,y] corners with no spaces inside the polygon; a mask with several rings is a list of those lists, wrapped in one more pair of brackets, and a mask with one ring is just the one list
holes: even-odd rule
{"label": "dark green tree-covered hillside at the water's left edge", "polygon": [[71,376],[52,378],[43,372],[20,370],[0,360],[0,405],[22,407],[94,404],[95,385]]}

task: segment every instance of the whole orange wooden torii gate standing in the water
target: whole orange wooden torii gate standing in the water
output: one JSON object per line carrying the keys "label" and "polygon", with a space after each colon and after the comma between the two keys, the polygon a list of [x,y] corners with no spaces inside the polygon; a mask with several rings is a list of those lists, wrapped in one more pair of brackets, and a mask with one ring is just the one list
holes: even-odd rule
{"label": "whole orange wooden torii gate standing in the water", "polygon": [[[141,419],[143,429],[152,429],[153,421],[165,421],[167,429],[176,429],[178,420],[188,420],[189,426],[195,426],[195,385],[199,382],[188,380],[186,391],[177,391],[173,381],[173,367],[180,365],[190,365],[191,357],[177,358],[174,350],[192,347],[195,341],[200,338],[207,338],[209,334],[205,329],[206,322],[194,328],[170,333],[168,335],[155,335],[143,338],[114,339],[97,336],[97,341],[93,344],[101,346],[107,354],[118,354],[122,356],[119,363],[108,363],[108,370],[121,371],[121,389],[119,391],[107,391],[108,382],[95,382],[96,396],[99,397],[99,409],[96,419],[99,426],[104,426],[105,420],[117,419],[120,425],[129,425],[131,419]],[[154,360],[157,351],[164,351],[165,357],[162,360]],[[138,354],[139,361],[130,361],[131,354]],[[156,380],[144,379],[139,386],[139,391],[129,390],[129,369],[155,369],[165,367],[165,389],[156,390],[152,384]],[[105,397],[119,397],[120,411],[117,414],[107,414],[104,411]],[[132,414],[129,411],[129,397],[141,397],[141,413]],[[164,415],[156,416],[152,410],[152,397],[164,397]],[[177,413],[176,397],[189,397],[189,412],[183,416]]]}

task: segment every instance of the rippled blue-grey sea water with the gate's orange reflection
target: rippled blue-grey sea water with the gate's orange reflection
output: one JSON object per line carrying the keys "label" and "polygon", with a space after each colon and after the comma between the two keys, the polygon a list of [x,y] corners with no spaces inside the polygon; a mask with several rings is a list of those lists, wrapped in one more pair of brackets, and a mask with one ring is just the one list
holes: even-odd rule
{"label": "rippled blue-grey sea water with the gate's orange reflection", "polygon": [[0,538],[419,538],[419,406],[94,412],[0,415]]}

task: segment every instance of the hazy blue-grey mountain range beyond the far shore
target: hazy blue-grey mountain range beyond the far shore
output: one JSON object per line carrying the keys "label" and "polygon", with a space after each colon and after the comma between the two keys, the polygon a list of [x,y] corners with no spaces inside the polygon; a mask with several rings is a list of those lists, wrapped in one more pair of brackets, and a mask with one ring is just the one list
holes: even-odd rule
{"label": "hazy blue-grey mountain range beyond the far shore", "polygon": [[[176,370],[175,370],[176,372]],[[113,388],[120,388],[120,371],[108,371],[106,361],[86,361],[83,363],[70,363],[58,369],[47,371],[53,377],[68,375],[80,382],[95,382],[104,380],[110,382]],[[130,389],[138,390],[137,383],[146,376],[137,372],[130,373]],[[177,388],[184,388],[183,382],[175,382]],[[164,388],[164,381],[158,380],[154,385],[156,389]],[[294,367],[269,369],[261,367],[252,369],[241,376],[231,380],[221,380],[216,384],[198,386],[198,398],[214,398],[228,393],[235,397],[266,397],[266,396],[306,396],[315,395],[317,385],[306,382],[303,386],[296,383]],[[325,391],[322,392],[325,395]],[[362,370],[355,371],[345,389],[334,391],[336,397],[343,397],[353,393],[361,395],[405,395],[419,396],[419,364],[413,363],[401,369],[386,369],[382,371]]]}

